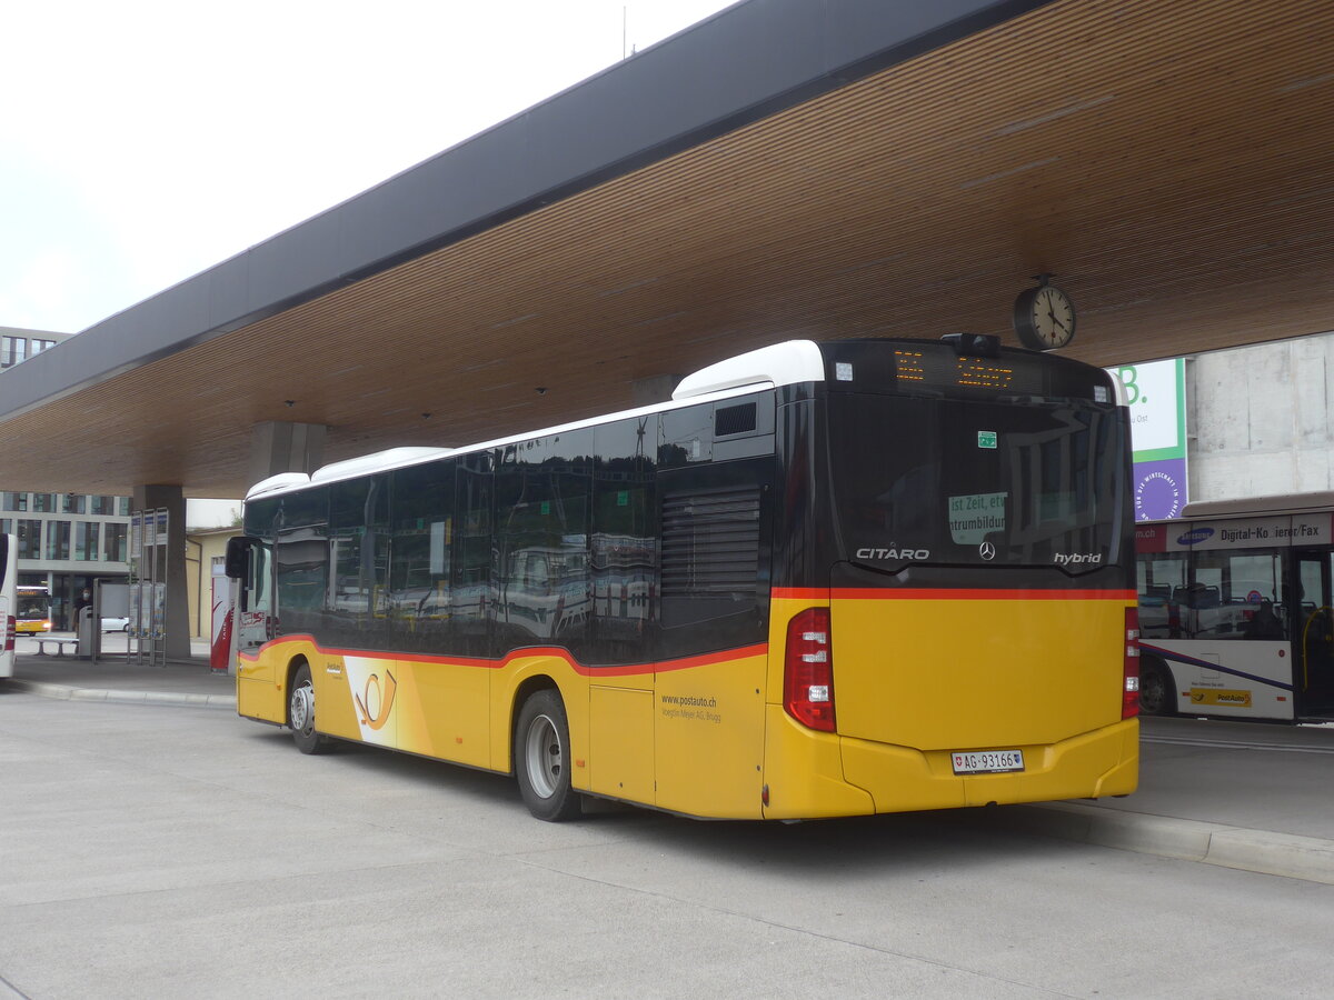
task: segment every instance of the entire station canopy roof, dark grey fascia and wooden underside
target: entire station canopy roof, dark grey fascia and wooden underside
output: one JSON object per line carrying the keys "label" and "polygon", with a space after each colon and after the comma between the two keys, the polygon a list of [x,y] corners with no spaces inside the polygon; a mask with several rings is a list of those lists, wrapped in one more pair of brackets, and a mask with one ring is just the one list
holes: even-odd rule
{"label": "entire station canopy roof, dark grey fascia and wooden underside", "polygon": [[1097,364],[1323,332],[1331,65],[1322,0],[742,3],[0,373],[0,468],[237,497],[256,423],[336,461],[791,339],[1017,343],[1039,273]]}

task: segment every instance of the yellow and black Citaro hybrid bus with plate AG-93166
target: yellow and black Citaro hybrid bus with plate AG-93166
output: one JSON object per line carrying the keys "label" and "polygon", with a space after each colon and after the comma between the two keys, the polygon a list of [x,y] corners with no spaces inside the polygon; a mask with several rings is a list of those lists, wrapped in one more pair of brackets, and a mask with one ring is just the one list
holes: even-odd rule
{"label": "yellow and black Citaro hybrid bus with plate AG-93166", "polygon": [[584,796],[812,819],[1138,779],[1117,383],[994,337],[808,340],[671,401],[283,473],[237,709]]}

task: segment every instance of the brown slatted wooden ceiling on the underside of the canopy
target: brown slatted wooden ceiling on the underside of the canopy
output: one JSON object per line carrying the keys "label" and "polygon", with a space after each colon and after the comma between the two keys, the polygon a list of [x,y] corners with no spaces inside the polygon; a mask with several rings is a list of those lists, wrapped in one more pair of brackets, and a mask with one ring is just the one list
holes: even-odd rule
{"label": "brown slatted wooden ceiling on the underside of the canopy", "polygon": [[328,425],[335,461],[626,408],[790,337],[1015,343],[1041,272],[1097,364],[1323,332],[1331,151],[1327,0],[1055,3],[44,404],[0,468],[237,497],[260,421]]}

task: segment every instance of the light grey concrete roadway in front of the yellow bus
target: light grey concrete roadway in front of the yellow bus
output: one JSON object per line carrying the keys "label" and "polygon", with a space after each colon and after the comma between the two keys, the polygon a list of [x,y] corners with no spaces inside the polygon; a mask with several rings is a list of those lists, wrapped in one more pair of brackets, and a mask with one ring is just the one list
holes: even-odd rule
{"label": "light grey concrete roadway in front of the yellow bus", "polygon": [[1329,996],[1334,885],[996,828],[647,809],[0,691],[0,997]]}

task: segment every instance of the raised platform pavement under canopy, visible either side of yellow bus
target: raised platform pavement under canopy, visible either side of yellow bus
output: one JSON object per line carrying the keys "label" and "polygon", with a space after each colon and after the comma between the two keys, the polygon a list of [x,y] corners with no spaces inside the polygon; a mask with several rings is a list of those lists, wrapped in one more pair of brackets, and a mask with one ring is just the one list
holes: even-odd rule
{"label": "raised platform pavement under canopy, visible either side of yellow bus", "polygon": [[[43,697],[236,711],[235,680],[189,661],[92,664],[19,640],[12,688]],[[121,640],[123,641],[123,640]],[[115,645],[115,637],[111,641]],[[1050,837],[1334,884],[1334,727],[1142,720],[1139,791],[988,809],[983,821]],[[976,817],[976,811],[960,811]]]}

